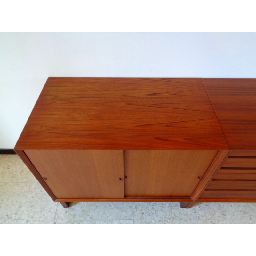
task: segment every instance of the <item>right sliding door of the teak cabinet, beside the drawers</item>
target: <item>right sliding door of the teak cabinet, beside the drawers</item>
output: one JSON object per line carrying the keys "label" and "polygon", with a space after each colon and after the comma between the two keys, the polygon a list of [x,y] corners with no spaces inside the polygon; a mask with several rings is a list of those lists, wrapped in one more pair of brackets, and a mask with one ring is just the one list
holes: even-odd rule
{"label": "right sliding door of the teak cabinet, beside the drawers", "polygon": [[125,150],[125,197],[191,196],[216,150]]}

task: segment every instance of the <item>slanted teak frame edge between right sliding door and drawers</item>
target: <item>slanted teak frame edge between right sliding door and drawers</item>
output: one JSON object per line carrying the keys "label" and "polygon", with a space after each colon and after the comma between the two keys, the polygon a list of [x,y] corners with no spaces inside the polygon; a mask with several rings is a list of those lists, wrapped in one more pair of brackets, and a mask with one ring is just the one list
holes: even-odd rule
{"label": "slanted teak frame edge between right sliding door and drawers", "polygon": [[197,198],[202,194],[204,189],[207,188],[207,185],[212,180],[212,177],[214,177],[214,175],[220,169],[221,164],[225,162],[225,160],[227,159],[228,154],[229,150],[220,150],[218,154],[215,156],[208,170],[205,172],[203,178],[201,179],[195,191],[191,195],[191,199],[193,201],[196,201]]}

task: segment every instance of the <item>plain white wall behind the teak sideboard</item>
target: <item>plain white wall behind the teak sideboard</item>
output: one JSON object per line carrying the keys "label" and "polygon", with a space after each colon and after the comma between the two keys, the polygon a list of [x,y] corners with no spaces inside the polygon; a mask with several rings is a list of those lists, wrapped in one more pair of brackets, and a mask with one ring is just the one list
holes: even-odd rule
{"label": "plain white wall behind the teak sideboard", "polygon": [[0,33],[0,148],[49,76],[256,77],[256,33]]}

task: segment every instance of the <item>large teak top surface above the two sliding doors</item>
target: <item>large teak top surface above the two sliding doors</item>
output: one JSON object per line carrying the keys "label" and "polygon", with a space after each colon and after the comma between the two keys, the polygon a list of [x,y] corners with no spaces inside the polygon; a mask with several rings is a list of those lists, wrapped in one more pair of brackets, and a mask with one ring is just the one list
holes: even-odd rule
{"label": "large teak top surface above the two sliding doors", "polygon": [[229,147],[200,78],[52,77],[15,149]]}

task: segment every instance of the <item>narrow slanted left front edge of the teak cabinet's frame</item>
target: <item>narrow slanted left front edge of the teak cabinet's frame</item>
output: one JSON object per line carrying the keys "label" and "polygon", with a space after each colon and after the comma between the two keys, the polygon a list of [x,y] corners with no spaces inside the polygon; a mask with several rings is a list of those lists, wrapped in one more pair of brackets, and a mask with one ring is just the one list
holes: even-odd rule
{"label": "narrow slanted left front edge of the teak cabinet's frame", "polygon": [[45,183],[44,179],[41,177],[39,172],[36,170],[35,166],[31,163],[28,156],[25,154],[23,150],[15,149],[15,152],[18,156],[20,156],[21,160],[24,162],[24,164],[27,165],[28,169],[32,174],[35,176],[36,180],[41,184],[41,186],[44,188],[44,190],[48,193],[48,195],[52,198],[53,201],[56,200],[56,196],[53,194],[52,190],[48,187],[48,185]]}

